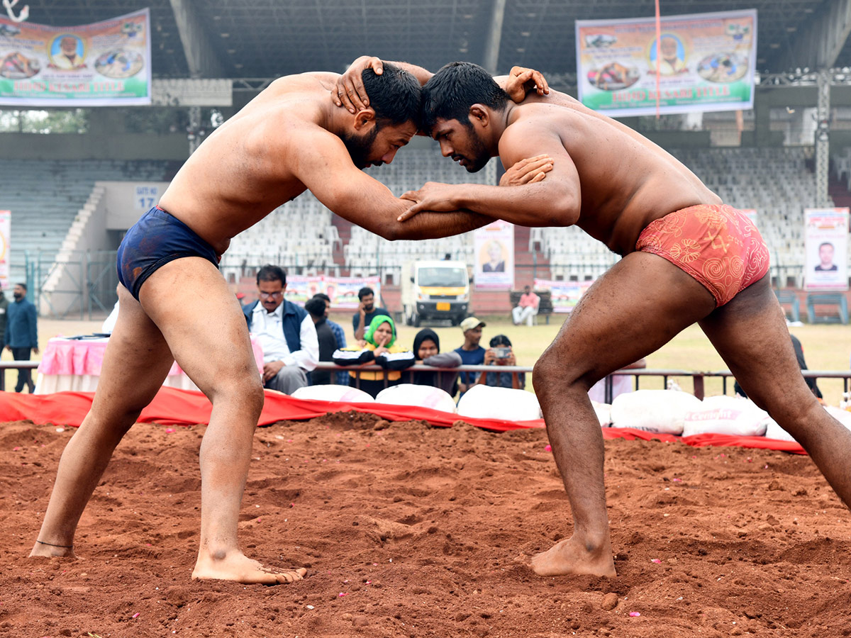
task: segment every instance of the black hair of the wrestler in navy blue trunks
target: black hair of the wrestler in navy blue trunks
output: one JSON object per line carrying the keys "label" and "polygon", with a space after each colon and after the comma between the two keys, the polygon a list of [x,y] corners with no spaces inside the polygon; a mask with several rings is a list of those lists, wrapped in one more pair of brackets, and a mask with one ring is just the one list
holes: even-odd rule
{"label": "black hair of the wrestler in navy blue trunks", "polygon": [[420,128],[420,82],[416,77],[385,62],[380,76],[372,69],[364,69],[361,79],[378,128],[405,122],[414,122]]}

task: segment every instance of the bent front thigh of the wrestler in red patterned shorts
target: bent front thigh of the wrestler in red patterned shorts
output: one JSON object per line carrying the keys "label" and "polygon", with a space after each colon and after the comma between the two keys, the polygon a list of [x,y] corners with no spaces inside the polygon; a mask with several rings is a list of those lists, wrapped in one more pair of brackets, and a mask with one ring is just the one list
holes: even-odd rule
{"label": "bent front thigh of the wrestler in red patterned shorts", "polygon": [[710,314],[715,299],[661,257],[630,253],[588,289],[545,351],[589,387]]}

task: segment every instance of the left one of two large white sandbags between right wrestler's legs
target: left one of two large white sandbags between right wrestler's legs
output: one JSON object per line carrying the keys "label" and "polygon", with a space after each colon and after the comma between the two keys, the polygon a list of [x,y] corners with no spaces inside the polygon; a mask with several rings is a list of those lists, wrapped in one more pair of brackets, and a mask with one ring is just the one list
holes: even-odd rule
{"label": "left one of two large white sandbags between right wrestler's legs", "polygon": [[700,409],[700,399],[677,390],[636,390],[612,402],[612,427],[663,434],[683,434],[686,413]]}

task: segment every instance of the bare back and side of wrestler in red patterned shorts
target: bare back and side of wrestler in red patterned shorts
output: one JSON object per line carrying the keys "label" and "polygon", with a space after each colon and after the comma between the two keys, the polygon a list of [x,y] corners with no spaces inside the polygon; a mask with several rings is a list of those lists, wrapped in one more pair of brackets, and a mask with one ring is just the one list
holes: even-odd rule
{"label": "bare back and side of wrestler in red patterned shorts", "polygon": [[577,225],[616,253],[632,252],[654,219],[695,204],[721,203],[670,153],[569,95],[553,91],[527,100],[514,121],[527,116],[552,122],[579,173]]}

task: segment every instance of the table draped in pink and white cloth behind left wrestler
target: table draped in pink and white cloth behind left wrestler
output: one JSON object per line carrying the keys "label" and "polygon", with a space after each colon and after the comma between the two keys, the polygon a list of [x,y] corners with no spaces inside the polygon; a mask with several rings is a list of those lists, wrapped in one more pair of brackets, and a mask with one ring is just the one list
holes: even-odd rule
{"label": "table draped in pink and white cloth behind left wrestler", "polygon": [[[67,339],[54,337],[42,353],[38,364],[35,394],[51,394],[65,390],[94,392],[100,379],[100,367],[103,365],[104,352],[109,338]],[[254,337],[251,338],[254,350],[254,362],[260,374],[263,373],[263,348]],[[172,364],[163,385],[182,390],[197,390],[198,387],[180,369],[177,362]]]}

